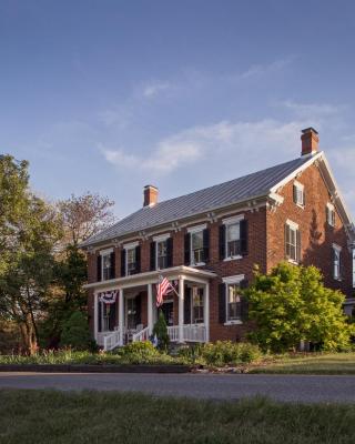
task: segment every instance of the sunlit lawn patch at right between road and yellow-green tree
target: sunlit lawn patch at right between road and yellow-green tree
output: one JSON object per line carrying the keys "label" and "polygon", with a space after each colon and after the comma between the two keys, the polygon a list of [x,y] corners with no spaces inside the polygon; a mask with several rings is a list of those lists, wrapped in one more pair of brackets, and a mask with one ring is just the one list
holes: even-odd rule
{"label": "sunlit lawn patch at right between road and yellow-green tree", "polygon": [[355,353],[296,354],[271,359],[251,366],[250,373],[355,374]]}

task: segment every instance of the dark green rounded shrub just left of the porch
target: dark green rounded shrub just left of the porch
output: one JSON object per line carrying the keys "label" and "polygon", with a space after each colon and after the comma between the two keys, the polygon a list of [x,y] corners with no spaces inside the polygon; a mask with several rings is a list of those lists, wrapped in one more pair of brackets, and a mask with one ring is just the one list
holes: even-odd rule
{"label": "dark green rounded shrub just left of the porch", "polygon": [[92,346],[87,316],[74,312],[63,323],[60,345],[73,350],[89,350]]}

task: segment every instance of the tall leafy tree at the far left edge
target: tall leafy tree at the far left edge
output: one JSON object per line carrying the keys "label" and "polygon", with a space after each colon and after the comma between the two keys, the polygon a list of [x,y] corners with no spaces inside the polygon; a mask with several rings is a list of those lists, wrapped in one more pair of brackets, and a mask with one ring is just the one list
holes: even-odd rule
{"label": "tall leafy tree at the far left edge", "polygon": [[[27,162],[0,158],[0,316],[20,329],[29,353],[38,346],[38,321],[53,279],[61,235],[54,209],[31,193]],[[9,195],[11,194],[11,195]]]}

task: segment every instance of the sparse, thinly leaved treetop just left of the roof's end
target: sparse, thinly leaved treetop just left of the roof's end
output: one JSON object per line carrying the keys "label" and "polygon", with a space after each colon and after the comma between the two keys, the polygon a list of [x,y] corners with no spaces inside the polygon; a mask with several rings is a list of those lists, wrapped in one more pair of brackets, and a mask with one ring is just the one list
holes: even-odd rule
{"label": "sparse, thinly leaved treetop just left of the roof's end", "polygon": [[114,202],[108,198],[89,192],[59,201],[65,244],[78,246],[80,242],[112,225],[115,221],[111,210],[113,205]]}

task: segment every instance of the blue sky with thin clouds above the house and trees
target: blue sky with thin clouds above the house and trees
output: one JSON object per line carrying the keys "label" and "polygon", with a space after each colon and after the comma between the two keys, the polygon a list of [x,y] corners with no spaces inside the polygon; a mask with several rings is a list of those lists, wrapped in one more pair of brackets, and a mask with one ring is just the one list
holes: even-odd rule
{"label": "blue sky with thin clouds above the house and trees", "polygon": [[123,216],[300,155],[355,213],[355,2],[0,0],[0,151]]}

